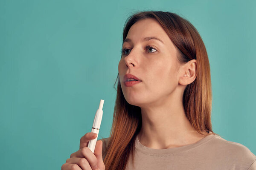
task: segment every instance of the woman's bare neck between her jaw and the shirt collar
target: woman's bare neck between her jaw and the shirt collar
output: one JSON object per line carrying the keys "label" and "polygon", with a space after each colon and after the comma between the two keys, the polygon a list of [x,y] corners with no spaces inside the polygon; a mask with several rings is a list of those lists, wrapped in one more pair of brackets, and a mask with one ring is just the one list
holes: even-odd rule
{"label": "woman's bare neck between her jaw and the shirt collar", "polygon": [[143,108],[141,111],[142,128],[138,139],[146,147],[154,149],[180,147],[195,143],[205,137],[192,127],[183,106],[179,108],[176,105],[172,110],[158,108],[157,112]]}

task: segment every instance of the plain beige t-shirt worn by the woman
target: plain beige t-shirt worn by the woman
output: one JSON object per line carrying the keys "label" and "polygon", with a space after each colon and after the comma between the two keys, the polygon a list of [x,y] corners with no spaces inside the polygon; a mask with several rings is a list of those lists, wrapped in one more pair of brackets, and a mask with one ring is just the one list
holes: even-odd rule
{"label": "plain beige t-shirt worn by the woman", "polygon": [[[102,139],[102,151],[108,139]],[[129,157],[125,170],[256,170],[256,156],[247,147],[214,134],[168,149],[145,147],[136,137],[134,156],[134,167]]]}

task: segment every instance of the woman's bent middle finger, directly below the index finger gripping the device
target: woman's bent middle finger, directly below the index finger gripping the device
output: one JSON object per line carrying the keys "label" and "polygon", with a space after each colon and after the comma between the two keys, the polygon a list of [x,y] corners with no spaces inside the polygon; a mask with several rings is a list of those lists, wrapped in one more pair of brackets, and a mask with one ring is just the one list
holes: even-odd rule
{"label": "woman's bent middle finger, directly below the index finger gripping the device", "polygon": [[89,147],[82,147],[75,153],[72,153],[70,155],[70,158],[79,157],[79,158],[85,158],[90,164],[90,167],[95,170],[98,168],[98,160],[96,156],[93,154],[93,152],[89,149]]}

